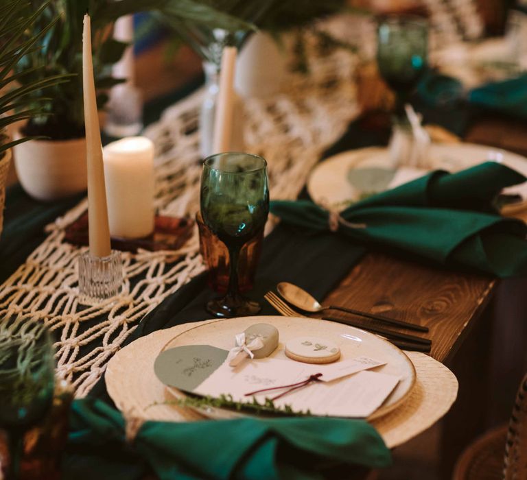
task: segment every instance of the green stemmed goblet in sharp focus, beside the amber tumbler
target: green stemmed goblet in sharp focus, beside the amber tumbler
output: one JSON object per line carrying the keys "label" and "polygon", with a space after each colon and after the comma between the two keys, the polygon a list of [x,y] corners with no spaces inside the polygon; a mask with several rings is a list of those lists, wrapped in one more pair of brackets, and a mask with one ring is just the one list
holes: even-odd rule
{"label": "green stemmed goblet in sharp focus, beside the amber tumbler", "polygon": [[238,258],[242,246],[261,235],[266,225],[269,213],[266,160],[241,152],[206,158],[200,204],[204,224],[229,250],[226,296],[207,302],[207,311],[217,317],[255,315],[261,309],[259,303],[239,293]]}

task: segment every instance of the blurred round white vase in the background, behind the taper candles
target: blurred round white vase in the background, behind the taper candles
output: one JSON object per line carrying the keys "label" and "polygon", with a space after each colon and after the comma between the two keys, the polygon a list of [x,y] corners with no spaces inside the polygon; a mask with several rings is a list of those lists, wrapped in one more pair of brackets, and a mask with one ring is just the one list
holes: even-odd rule
{"label": "blurred round white vase in the background, behind the taper candles", "polygon": [[281,46],[266,32],[247,40],[236,63],[235,88],[242,97],[270,97],[281,93],[292,78],[290,63],[294,36],[281,34]]}

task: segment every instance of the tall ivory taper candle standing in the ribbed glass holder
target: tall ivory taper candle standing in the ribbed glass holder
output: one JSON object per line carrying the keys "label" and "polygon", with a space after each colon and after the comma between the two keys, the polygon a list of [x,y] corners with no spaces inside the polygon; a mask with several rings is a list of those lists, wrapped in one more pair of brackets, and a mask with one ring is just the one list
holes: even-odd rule
{"label": "tall ivory taper candle standing in the ribbed glass holder", "polygon": [[101,132],[97,115],[93,62],[91,58],[91,21],[84,15],[82,34],[82,88],[84,91],[84,125],[86,125],[86,164],[88,167],[88,221],[90,253],[110,254],[110,229],[104,187]]}

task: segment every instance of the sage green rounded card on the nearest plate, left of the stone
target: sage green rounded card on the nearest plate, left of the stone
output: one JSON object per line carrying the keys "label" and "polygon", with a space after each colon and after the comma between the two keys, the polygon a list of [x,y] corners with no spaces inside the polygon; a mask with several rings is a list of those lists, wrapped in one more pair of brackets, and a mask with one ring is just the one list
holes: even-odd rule
{"label": "sage green rounded card on the nearest plate, left of the stone", "polygon": [[227,355],[228,350],[210,345],[169,348],[156,358],[154,372],[165,385],[193,392],[222,365]]}

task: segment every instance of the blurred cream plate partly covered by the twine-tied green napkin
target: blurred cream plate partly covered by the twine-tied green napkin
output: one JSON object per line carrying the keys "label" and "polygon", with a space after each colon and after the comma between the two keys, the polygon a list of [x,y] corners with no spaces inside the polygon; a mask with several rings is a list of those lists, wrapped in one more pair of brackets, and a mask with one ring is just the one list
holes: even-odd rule
{"label": "blurred cream plate partly covered by the twine-tied green napkin", "polygon": [[[451,172],[460,171],[486,161],[496,161],[511,167],[527,176],[527,158],[506,150],[475,145],[473,143],[437,143],[430,147],[432,169]],[[360,200],[364,193],[354,187],[349,180],[352,169],[388,168],[390,165],[388,149],[369,147],[342,152],[318,164],[307,181],[307,191],[312,200],[319,205],[342,210]],[[403,167],[399,169],[387,188],[397,187],[419,176],[425,169]],[[527,207],[527,182],[505,189],[505,193],[517,194],[522,202],[511,204],[504,212],[519,211]]]}

